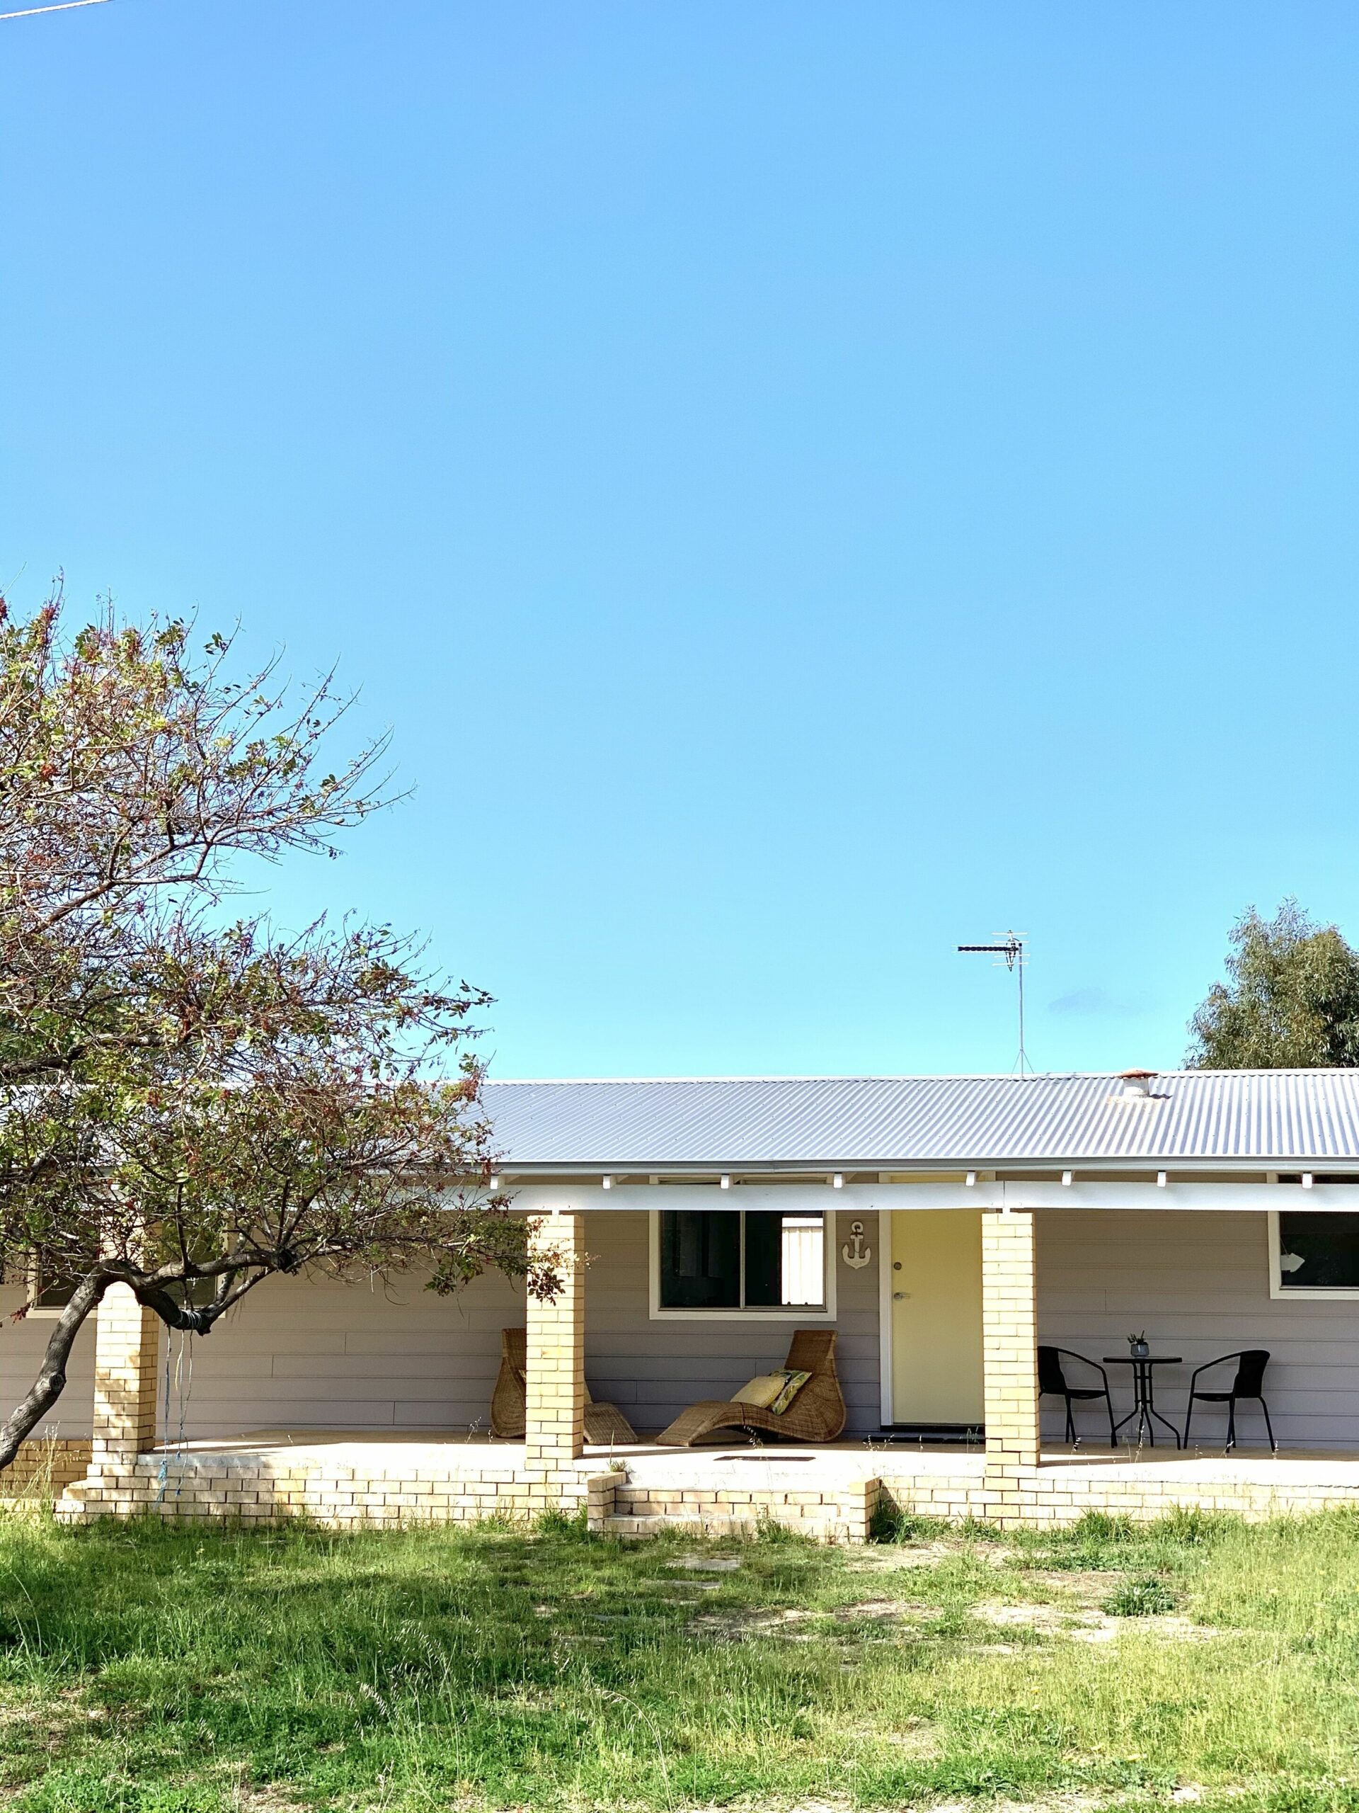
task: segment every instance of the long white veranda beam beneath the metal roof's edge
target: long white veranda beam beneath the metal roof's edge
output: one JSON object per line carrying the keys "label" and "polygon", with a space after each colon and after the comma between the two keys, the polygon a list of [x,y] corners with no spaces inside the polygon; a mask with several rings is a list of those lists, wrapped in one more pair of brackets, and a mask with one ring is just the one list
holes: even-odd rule
{"label": "long white veranda beam beneath the metal roof's edge", "polygon": [[1306,1209],[1310,1213],[1359,1213],[1359,1186],[1316,1184],[1060,1184],[977,1182],[966,1184],[593,1184],[513,1186],[518,1215],[602,1213],[645,1209],[841,1209],[843,1213],[890,1209]]}

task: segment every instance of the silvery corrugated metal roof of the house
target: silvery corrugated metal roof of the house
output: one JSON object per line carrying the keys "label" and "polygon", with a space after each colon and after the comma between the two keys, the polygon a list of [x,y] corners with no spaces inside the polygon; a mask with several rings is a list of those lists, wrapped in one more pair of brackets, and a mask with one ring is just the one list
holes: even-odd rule
{"label": "silvery corrugated metal roof of the house", "polygon": [[1355,1160],[1357,1070],[1160,1073],[1147,1100],[1114,1075],[694,1077],[487,1082],[496,1146],[516,1166],[1056,1164]]}

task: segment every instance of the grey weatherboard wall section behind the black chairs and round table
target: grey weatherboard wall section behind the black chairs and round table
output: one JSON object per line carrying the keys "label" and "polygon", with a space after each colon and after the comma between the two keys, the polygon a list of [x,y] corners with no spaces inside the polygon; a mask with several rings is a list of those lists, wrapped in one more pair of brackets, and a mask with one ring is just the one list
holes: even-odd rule
{"label": "grey weatherboard wall section behind the black chairs and round table", "polygon": [[[1040,1340],[1102,1360],[1127,1352],[1127,1336],[1143,1329],[1152,1352],[1185,1358],[1181,1367],[1156,1367],[1156,1407],[1178,1427],[1192,1367],[1267,1347],[1265,1396],[1279,1443],[1359,1447],[1359,1300],[1270,1298],[1265,1215],[1040,1213]],[[1230,1369],[1223,1374],[1230,1380]],[[1111,1367],[1109,1383],[1122,1416],[1132,1401],[1129,1369]],[[1076,1425],[1093,1449],[1100,1407],[1078,1407]],[[1194,1447],[1219,1443],[1223,1429],[1223,1409],[1194,1407]],[[1044,1432],[1062,1432],[1058,1398],[1044,1400]],[[1263,1443],[1256,1405],[1239,1407],[1238,1440]]]}

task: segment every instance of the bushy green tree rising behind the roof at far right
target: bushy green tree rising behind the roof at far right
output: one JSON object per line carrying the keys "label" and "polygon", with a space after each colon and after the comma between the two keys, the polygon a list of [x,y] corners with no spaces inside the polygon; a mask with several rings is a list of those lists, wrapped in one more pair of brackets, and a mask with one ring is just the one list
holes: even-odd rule
{"label": "bushy green tree rising behind the roof at far right", "polygon": [[1227,983],[1214,983],[1190,1032],[1196,1070],[1310,1070],[1359,1064],[1359,952],[1334,925],[1287,899],[1232,926]]}

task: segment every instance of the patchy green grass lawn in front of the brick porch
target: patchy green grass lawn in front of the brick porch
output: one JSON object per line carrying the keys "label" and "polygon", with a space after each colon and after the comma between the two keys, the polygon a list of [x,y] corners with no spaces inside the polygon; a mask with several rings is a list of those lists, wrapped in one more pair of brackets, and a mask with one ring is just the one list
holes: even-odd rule
{"label": "patchy green grass lawn in front of the brick porch", "polygon": [[0,1514],[0,1804],[1359,1809],[1359,1516],[892,1534]]}

